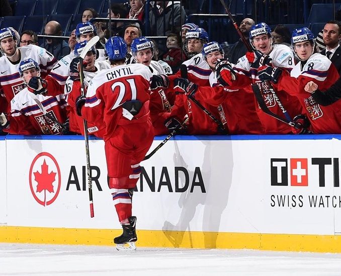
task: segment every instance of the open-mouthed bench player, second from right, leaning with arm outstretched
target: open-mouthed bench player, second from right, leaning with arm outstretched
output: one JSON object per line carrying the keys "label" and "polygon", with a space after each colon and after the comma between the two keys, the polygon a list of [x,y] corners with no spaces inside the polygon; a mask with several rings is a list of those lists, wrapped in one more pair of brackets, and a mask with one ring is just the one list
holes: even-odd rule
{"label": "open-mouthed bench player, second from right, leaning with arm outstretched", "polygon": [[[274,68],[280,67],[290,71],[295,65],[292,50],[283,44],[273,47],[271,28],[263,22],[251,27],[249,41],[254,52],[247,52],[239,58],[234,66],[229,64],[228,61],[221,61],[216,64],[218,81],[229,89],[239,89],[238,93],[242,89],[243,93],[252,96],[251,84],[253,82],[260,83],[262,85],[262,96],[266,99],[267,107],[271,112],[281,115],[281,107],[272,96],[271,87],[267,83],[262,83],[258,70],[262,68],[264,63],[271,64]],[[285,89],[277,89],[275,85],[274,89],[291,116],[301,114],[302,107],[294,97],[288,95]],[[289,125],[263,112],[259,108],[257,101],[254,101],[254,104],[265,134],[292,134]]]}

